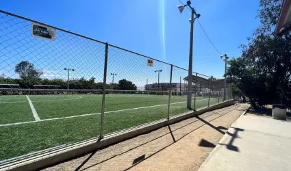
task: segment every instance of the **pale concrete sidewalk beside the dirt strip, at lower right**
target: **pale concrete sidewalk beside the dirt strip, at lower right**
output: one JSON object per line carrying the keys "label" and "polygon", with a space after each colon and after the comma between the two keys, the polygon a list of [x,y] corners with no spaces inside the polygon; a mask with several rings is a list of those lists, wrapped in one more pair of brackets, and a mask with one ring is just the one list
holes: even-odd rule
{"label": "pale concrete sidewalk beside the dirt strip, at lower right", "polygon": [[199,170],[291,170],[291,122],[240,116]]}

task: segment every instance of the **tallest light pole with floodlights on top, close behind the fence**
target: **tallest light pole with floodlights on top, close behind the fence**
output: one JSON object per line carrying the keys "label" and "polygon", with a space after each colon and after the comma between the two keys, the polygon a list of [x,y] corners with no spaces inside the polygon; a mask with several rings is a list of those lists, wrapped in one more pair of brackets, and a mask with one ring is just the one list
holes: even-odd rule
{"label": "tallest light pole with floodlights on top, close behind the fence", "polygon": [[[200,17],[200,14],[197,14],[195,9],[191,6],[191,1],[187,1],[187,5],[179,5],[178,9],[182,13],[184,8],[189,6],[191,9],[191,19],[189,20],[191,23],[190,28],[190,51],[189,51],[189,68],[188,68],[188,98],[187,98],[187,108],[191,109],[191,101],[192,101],[192,60],[193,60],[193,25],[196,18]],[[195,14],[195,18],[194,18]]]}

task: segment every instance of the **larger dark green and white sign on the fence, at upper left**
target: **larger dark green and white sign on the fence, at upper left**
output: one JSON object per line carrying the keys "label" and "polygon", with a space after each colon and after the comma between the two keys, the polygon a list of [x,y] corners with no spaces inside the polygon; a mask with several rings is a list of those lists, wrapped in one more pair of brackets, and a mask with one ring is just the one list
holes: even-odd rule
{"label": "larger dark green and white sign on the fence, at upper left", "polygon": [[31,23],[31,35],[36,38],[55,40],[55,29],[38,23]]}

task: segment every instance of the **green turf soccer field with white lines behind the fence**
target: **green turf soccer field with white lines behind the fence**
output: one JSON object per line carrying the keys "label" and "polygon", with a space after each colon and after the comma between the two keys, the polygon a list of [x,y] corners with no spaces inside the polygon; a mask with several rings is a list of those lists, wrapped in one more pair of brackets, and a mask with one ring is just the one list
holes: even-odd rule
{"label": "green turf soccer field with white lines behind the fence", "polygon": [[[100,94],[0,96],[0,161],[98,137],[101,99]],[[218,98],[210,98],[210,105],[216,103]],[[207,105],[208,97],[196,98],[197,109]],[[186,96],[171,96],[170,116],[187,111]],[[166,95],[106,94],[104,133],[166,118],[167,112]]]}

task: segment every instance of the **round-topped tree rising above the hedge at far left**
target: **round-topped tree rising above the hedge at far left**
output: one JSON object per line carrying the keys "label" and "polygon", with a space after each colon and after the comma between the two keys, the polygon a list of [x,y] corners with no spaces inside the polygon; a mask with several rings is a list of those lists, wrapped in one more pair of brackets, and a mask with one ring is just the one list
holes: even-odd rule
{"label": "round-topped tree rising above the hedge at far left", "polygon": [[43,74],[41,70],[34,68],[34,64],[28,61],[22,61],[15,66],[15,73],[19,74],[19,77],[28,86],[32,86],[35,83],[39,83],[40,76]]}

